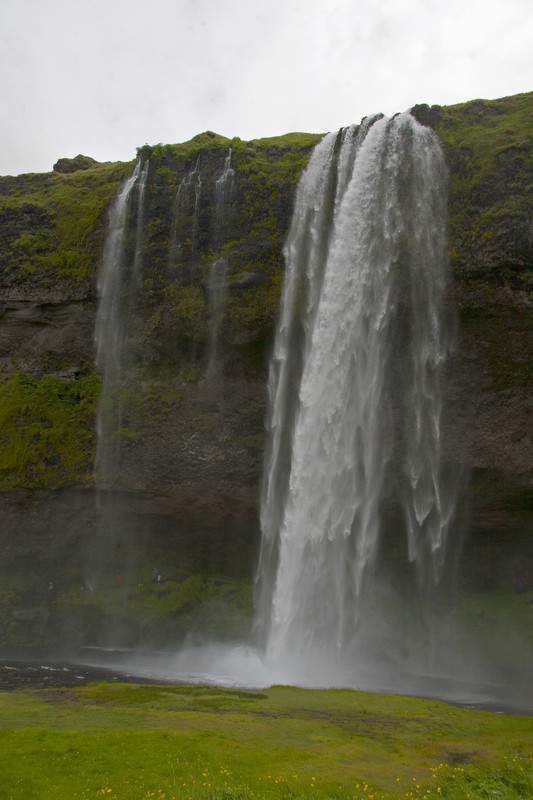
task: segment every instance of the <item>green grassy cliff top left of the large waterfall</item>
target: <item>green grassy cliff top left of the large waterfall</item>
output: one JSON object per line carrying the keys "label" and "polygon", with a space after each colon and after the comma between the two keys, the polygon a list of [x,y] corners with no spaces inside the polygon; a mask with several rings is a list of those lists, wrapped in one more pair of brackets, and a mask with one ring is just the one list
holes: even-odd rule
{"label": "green grassy cliff top left of the large waterfall", "polygon": [[[195,159],[223,159],[231,147],[237,173],[288,180],[292,192],[319,138],[289,133],[243,142],[207,131],[181,144],[144,145],[137,156],[149,157],[151,169],[175,190]],[[70,282],[88,290],[98,271],[106,209],[133,165],[84,162],[70,172],[0,177],[0,285]]]}

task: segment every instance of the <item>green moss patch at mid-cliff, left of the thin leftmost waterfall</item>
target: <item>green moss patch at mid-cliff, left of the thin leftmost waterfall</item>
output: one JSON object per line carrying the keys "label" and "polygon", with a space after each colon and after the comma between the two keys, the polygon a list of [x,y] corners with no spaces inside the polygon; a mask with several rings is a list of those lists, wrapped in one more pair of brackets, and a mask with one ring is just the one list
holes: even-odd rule
{"label": "green moss patch at mid-cliff, left of the thin leftmost waterfall", "polygon": [[91,479],[95,375],[74,381],[0,379],[0,486],[57,487]]}

